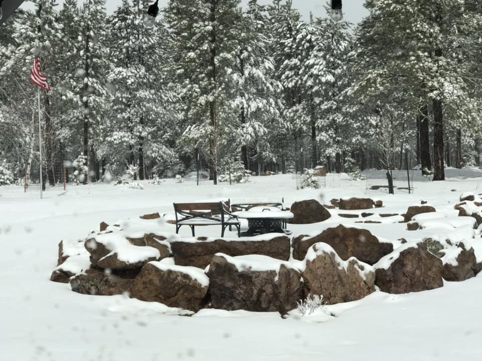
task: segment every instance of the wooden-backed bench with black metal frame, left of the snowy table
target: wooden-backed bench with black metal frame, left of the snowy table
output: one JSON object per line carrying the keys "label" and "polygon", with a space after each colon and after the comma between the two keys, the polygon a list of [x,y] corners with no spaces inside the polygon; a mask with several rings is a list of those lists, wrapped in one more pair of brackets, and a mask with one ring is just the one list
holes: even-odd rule
{"label": "wooden-backed bench with black metal frame, left of the snowy table", "polygon": [[221,226],[221,237],[226,227],[234,226],[240,237],[240,225],[237,217],[229,212],[229,201],[212,203],[174,203],[176,214],[176,234],[181,226],[189,226],[194,237],[195,226]]}

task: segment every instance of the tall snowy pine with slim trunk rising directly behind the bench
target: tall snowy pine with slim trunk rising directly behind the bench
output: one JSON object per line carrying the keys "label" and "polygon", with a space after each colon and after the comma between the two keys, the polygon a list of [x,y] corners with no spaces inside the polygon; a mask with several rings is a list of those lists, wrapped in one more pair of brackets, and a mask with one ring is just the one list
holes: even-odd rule
{"label": "tall snowy pine with slim trunk rising directly behind the bench", "polygon": [[207,143],[210,179],[217,184],[218,153],[223,145],[223,122],[229,82],[238,51],[236,24],[243,22],[239,0],[171,0],[165,18],[172,39],[173,69],[184,91],[186,118],[192,125],[186,138]]}

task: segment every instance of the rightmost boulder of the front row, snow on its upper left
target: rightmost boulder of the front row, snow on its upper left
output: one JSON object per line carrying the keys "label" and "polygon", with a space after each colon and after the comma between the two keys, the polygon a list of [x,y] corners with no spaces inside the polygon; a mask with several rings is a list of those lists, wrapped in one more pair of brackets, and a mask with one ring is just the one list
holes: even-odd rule
{"label": "rightmost boulder of the front row, snow on its upper left", "polygon": [[476,264],[473,248],[468,250],[463,243],[459,243],[458,247],[443,249],[442,277],[446,281],[465,281],[475,276],[474,268]]}

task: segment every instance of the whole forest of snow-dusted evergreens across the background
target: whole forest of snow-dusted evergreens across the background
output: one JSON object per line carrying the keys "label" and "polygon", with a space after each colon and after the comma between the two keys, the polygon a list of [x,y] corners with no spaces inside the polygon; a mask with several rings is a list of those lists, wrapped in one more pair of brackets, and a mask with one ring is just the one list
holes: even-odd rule
{"label": "whole forest of snow-dusted evergreens across the background", "polygon": [[[480,165],[478,0],[366,0],[359,24],[303,20],[290,0],[39,0],[0,27],[0,173],[39,179],[36,39],[50,185],[228,164],[256,173]],[[82,157],[81,155],[84,155]],[[77,161],[75,161],[77,160]],[[65,163],[67,162],[67,163]],[[1,178],[1,177],[0,177]]]}

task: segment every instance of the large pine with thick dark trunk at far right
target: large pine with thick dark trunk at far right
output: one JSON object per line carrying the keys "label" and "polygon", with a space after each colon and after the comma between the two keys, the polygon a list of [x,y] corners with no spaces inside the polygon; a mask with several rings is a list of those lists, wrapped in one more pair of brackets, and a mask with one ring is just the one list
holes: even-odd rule
{"label": "large pine with thick dark trunk at far right", "polygon": [[[358,73],[359,85],[372,94],[401,87],[417,109],[428,104],[433,114],[433,179],[443,180],[444,114],[450,120],[449,108],[471,108],[469,59],[478,49],[480,15],[465,2],[450,0],[367,0],[366,6],[370,16],[357,31],[358,62],[365,69]],[[472,113],[465,116],[473,121]],[[422,145],[422,131],[420,135]]]}

